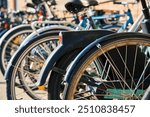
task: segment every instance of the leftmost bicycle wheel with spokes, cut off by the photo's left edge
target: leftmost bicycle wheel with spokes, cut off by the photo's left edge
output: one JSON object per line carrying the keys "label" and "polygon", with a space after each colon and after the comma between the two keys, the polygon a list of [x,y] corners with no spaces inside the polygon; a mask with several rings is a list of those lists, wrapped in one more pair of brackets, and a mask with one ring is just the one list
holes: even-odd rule
{"label": "leftmost bicycle wheel with spokes, cut off by the photo's left edge", "polygon": [[14,29],[11,29],[6,35],[4,35],[4,37],[2,37],[0,42],[0,68],[3,74],[5,73],[11,57],[19,48],[23,40],[25,40],[25,38],[32,32],[33,30],[31,29],[31,26],[21,25],[18,26],[18,28],[14,27]]}

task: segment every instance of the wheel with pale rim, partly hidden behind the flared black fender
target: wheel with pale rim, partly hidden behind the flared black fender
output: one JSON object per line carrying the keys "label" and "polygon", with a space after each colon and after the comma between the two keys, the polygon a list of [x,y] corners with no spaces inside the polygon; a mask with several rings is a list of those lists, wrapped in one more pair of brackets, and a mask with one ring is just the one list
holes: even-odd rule
{"label": "wheel with pale rim, partly hidden behind the flared black fender", "polygon": [[47,99],[47,84],[38,87],[36,83],[46,58],[58,46],[58,34],[59,31],[42,34],[13,56],[11,63],[15,64],[9,65],[5,75],[9,100]]}

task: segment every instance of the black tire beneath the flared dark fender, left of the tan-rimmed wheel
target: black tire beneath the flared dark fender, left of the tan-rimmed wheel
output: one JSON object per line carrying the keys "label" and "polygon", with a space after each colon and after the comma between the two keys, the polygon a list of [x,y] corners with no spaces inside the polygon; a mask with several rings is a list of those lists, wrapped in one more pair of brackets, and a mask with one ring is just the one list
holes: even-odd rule
{"label": "black tire beneath the flared dark fender, left of the tan-rimmed wheel", "polygon": [[66,53],[60,60],[57,61],[54,68],[59,70],[55,71],[52,69],[52,73],[49,76],[48,80],[48,99],[49,100],[61,100],[63,86],[61,85],[64,75],[66,73],[67,67],[76,57],[76,55],[81,51],[81,49],[73,50],[69,53]]}

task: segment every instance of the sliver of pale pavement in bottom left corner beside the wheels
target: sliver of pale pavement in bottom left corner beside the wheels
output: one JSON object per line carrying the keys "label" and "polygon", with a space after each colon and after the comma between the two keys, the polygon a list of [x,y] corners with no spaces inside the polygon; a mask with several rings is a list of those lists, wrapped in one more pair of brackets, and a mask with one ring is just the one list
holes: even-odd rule
{"label": "sliver of pale pavement in bottom left corner beside the wheels", "polygon": [[6,100],[6,83],[0,72],[0,100]]}

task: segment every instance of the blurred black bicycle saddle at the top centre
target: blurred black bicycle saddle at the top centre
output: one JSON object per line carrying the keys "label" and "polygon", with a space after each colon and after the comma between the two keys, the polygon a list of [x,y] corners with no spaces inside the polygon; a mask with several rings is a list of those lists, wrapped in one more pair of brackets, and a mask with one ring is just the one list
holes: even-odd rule
{"label": "blurred black bicycle saddle at the top centre", "polygon": [[84,8],[98,5],[97,0],[68,0],[65,8],[71,13],[81,12]]}

